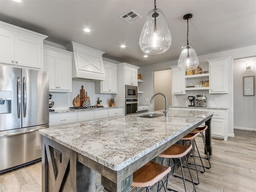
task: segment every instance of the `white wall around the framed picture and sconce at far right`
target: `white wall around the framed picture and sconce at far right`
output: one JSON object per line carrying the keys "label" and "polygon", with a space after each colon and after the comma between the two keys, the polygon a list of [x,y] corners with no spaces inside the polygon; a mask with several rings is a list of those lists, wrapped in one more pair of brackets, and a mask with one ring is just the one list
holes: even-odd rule
{"label": "white wall around the framed picture and sconce at far right", "polygon": [[[246,69],[246,63],[252,68]],[[234,60],[234,128],[256,131],[256,57]],[[254,96],[244,96],[243,77],[254,76]]]}

